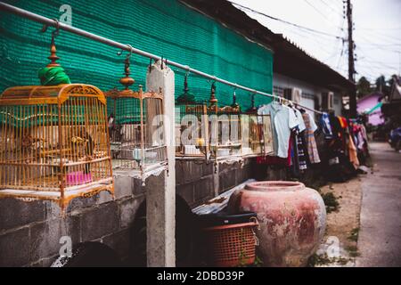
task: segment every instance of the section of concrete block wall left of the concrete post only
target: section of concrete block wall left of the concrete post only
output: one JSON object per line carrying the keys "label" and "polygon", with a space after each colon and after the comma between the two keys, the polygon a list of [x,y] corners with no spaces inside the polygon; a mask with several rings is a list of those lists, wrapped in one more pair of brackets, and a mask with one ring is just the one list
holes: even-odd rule
{"label": "section of concrete block wall left of the concrete post only", "polygon": [[[148,187],[159,179],[150,177]],[[115,182],[115,199],[106,191],[73,199],[64,217],[50,201],[0,199],[0,266],[49,266],[59,256],[62,236],[70,236],[73,246],[100,241],[126,257],[129,229],[146,187],[129,177]]]}

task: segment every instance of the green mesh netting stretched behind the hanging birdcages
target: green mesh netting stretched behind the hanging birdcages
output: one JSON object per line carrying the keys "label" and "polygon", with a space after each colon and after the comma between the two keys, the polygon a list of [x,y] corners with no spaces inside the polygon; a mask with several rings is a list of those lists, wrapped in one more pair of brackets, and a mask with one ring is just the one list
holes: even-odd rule
{"label": "green mesh netting stretched behind the hanging birdcages", "polygon": [[[240,85],[272,92],[273,54],[175,0],[128,1],[5,1],[48,18],[59,18],[61,4],[72,7],[72,24],[102,37],[133,45],[143,51],[187,64]],[[49,61],[51,33],[40,33],[41,24],[0,12],[0,91],[12,85],[39,85],[37,70]],[[50,28],[53,29],[53,28]],[[102,90],[119,86],[124,56],[118,50],[62,31],[55,38],[59,61],[73,83],[96,85]],[[133,55],[132,77],[144,85],[149,59]],[[175,69],[175,68],[173,68]],[[176,96],[183,93],[184,71],[176,71]],[[197,101],[208,100],[210,83],[202,77],[188,79]],[[233,88],[217,83],[220,106],[232,103]],[[237,90],[241,109],[250,107],[250,96]],[[270,102],[257,95],[256,104]]]}

